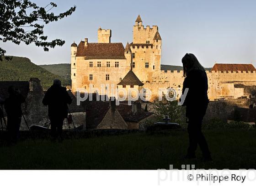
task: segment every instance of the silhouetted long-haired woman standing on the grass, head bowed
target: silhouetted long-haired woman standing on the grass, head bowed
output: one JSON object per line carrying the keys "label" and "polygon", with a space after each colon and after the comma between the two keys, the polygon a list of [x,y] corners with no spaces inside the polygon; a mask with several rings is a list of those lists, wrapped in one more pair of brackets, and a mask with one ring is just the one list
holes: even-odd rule
{"label": "silhouetted long-haired woman standing on the grass, head bowed", "polygon": [[202,120],[205,115],[208,100],[208,80],[203,66],[197,57],[187,53],[182,58],[185,80],[182,93],[188,88],[188,93],[183,105],[186,105],[186,117],[188,122],[189,147],[186,158],[195,158],[197,144],[203,152],[203,159],[212,160],[207,142],[202,133]]}

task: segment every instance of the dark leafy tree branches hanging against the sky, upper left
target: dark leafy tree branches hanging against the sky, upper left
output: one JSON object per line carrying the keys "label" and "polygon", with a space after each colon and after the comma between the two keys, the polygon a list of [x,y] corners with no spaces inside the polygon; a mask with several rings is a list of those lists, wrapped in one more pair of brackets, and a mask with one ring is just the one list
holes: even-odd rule
{"label": "dark leafy tree branches hanging against the sky, upper left", "polygon": [[[57,5],[53,2],[45,7],[39,7],[30,0],[0,0],[0,41],[11,41],[17,45],[24,42],[26,45],[34,43],[43,47],[44,51],[55,46],[63,46],[65,41],[55,39],[47,42],[43,35],[44,25],[70,16],[76,6],[58,15],[51,11]],[[6,51],[0,47],[0,60]],[[8,57],[5,57],[8,58]]]}

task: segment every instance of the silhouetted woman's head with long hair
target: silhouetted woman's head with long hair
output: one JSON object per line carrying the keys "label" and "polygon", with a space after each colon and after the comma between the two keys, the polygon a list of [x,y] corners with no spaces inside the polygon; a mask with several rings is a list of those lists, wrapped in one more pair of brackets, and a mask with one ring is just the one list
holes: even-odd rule
{"label": "silhouetted woman's head with long hair", "polygon": [[186,77],[193,69],[198,69],[205,71],[203,66],[198,62],[197,57],[192,53],[186,53],[186,55],[181,60],[183,64],[183,76]]}

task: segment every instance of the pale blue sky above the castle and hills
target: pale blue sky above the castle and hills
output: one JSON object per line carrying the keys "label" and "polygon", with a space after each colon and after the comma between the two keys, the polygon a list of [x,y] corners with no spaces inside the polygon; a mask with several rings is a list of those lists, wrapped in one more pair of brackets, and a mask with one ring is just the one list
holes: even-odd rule
{"label": "pale blue sky above the castle and hills", "polygon": [[70,45],[88,38],[97,42],[97,29],[111,29],[111,42],[132,42],[138,15],[144,26],[157,25],[162,38],[162,64],[181,65],[186,52],[194,53],[204,67],[218,63],[251,63],[256,66],[255,0],[32,0],[45,6],[53,1],[54,12],[76,5],[76,11],[45,26],[49,39],[64,46],[44,52],[35,45],[0,46],[7,55],[28,57],[35,64],[70,62]]}

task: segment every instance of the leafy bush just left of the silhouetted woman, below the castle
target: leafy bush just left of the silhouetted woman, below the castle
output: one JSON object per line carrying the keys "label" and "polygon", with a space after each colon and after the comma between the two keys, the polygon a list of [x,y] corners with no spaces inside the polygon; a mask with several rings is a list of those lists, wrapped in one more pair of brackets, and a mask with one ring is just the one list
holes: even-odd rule
{"label": "leafy bush just left of the silhouetted woman, below the castle", "polygon": [[[169,93],[169,97],[173,97],[173,93]],[[169,116],[171,122],[181,123],[182,121],[182,108],[178,105],[178,101],[168,101],[166,95],[162,94],[162,101],[155,101],[153,104],[153,111],[159,118]]]}

